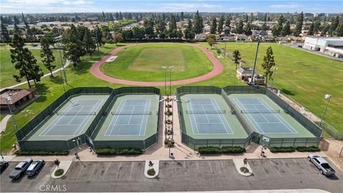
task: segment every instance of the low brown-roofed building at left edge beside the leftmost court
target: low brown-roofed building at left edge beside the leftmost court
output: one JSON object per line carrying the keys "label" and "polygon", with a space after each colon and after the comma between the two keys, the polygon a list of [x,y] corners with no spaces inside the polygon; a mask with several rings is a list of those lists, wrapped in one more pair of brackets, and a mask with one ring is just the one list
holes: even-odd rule
{"label": "low brown-roofed building at left edge beside the leftmost court", "polygon": [[0,107],[2,110],[12,111],[22,109],[36,99],[34,91],[36,89],[4,89],[0,92]]}

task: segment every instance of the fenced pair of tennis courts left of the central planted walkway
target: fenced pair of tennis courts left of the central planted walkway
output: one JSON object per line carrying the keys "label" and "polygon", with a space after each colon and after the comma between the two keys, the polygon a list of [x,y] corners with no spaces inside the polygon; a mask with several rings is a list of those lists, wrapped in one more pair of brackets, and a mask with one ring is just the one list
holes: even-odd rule
{"label": "fenced pair of tennis courts left of the central planted walkway", "polygon": [[[112,105],[124,96],[129,98],[121,107],[125,110],[108,113],[111,112]],[[154,87],[70,89],[16,132],[16,139],[23,150],[73,149],[76,144],[89,144],[99,148],[113,147],[112,139],[115,138],[98,142],[97,139],[101,137],[96,137],[99,132],[96,130],[97,126],[106,119],[104,117],[109,117],[112,121],[106,126],[111,127],[111,130],[108,129],[108,136],[138,136],[121,138],[121,143],[127,144],[124,147],[146,149],[157,141],[158,107],[159,89]],[[152,114],[151,111],[156,113]],[[116,147],[123,146],[116,144]]]}

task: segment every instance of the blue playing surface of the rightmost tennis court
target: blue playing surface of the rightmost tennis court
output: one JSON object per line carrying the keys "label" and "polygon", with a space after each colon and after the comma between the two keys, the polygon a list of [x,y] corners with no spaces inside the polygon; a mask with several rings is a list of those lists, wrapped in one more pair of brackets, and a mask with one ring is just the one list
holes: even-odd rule
{"label": "blue playing surface of the rightmost tennis court", "polygon": [[[262,134],[297,134],[281,116],[260,98],[234,98],[234,102],[242,109],[255,129]],[[282,111],[281,111],[282,112]]]}

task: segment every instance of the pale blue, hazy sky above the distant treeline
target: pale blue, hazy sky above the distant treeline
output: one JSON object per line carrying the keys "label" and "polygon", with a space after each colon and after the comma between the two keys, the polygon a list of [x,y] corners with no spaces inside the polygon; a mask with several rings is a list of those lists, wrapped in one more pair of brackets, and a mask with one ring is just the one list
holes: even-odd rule
{"label": "pale blue, hazy sky above the distant treeline", "polygon": [[343,1],[142,1],[142,0],[1,0],[1,14],[63,12],[343,12]]}

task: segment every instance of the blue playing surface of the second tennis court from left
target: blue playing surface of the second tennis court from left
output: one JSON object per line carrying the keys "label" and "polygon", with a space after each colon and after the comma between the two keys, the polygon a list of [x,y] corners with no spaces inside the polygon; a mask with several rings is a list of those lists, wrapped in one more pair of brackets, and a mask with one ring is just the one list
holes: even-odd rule
{"label": "blue playing surface of the second tennis court from left", "polygon": [[116,112],[111,112],[113,116],[105,136],[129,136],[144,135],[151,99],[124,99],[120,102]]}

